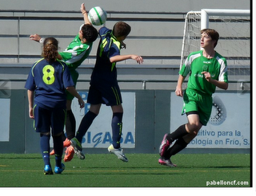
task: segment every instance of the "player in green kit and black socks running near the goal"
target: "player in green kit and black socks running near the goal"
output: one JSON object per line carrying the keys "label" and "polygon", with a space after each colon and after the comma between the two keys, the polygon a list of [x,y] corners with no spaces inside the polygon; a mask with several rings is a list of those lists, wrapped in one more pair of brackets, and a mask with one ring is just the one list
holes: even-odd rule
{"label": "player in green kit and black socks running near the goal", "polygon": [[[214,48],[218,43],[219,34],[214,29],[201,30],[202,50],[190,53],[179,72],[176,95],[182,96],[188,122],[182,124],[174,132],[164,135],[159,147],[158,163],[167,167],[176,165],[170,157],[186,148],[202,126],[206,126],[212,110],[212,94],[216,87],[227,89],[228,76],[226,58],[217,53]],[[182,92],[182,83],[189,75],[186,91]],[[176,140],[176,141],[175,141]],[[174,143],[170,147],[171,143]]]}

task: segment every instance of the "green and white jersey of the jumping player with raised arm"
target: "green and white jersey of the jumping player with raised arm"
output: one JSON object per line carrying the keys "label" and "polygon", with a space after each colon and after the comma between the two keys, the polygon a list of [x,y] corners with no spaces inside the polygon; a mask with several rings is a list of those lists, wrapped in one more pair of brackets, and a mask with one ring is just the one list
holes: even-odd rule
{"label": "green and white jersey of the jumping player with raised arm", "polygon": [[66,62],[66,65],[72,69],[77,69],[79,65],[82,64],[82,61],[89,56],[92,49],[93,43],[83,44],[77,35],[74,37],[74,40],[70,42],[70,45],[67,48],[60,52],[62,60]]}

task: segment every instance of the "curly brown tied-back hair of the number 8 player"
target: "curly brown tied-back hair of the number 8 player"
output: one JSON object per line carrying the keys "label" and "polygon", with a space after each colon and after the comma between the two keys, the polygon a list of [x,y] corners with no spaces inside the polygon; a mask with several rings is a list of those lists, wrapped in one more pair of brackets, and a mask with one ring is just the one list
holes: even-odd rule
{"label": "curly brown tied-back hair of the number 8 player", "polygon": [[58,41],[54,37],[47,37],[43,41],[42,57],[49,62],[56,61],[58,57]]}

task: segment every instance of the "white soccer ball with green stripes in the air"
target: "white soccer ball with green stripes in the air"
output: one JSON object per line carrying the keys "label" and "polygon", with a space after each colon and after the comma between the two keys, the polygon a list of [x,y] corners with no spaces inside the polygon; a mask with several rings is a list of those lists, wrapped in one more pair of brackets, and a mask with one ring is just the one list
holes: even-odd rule
{"label": "white soccer ball with green stripes in the air", "polygon": [[93,25],[103,25],[106,22],[106,11],[96,6],[90,9],[88,19]]}

